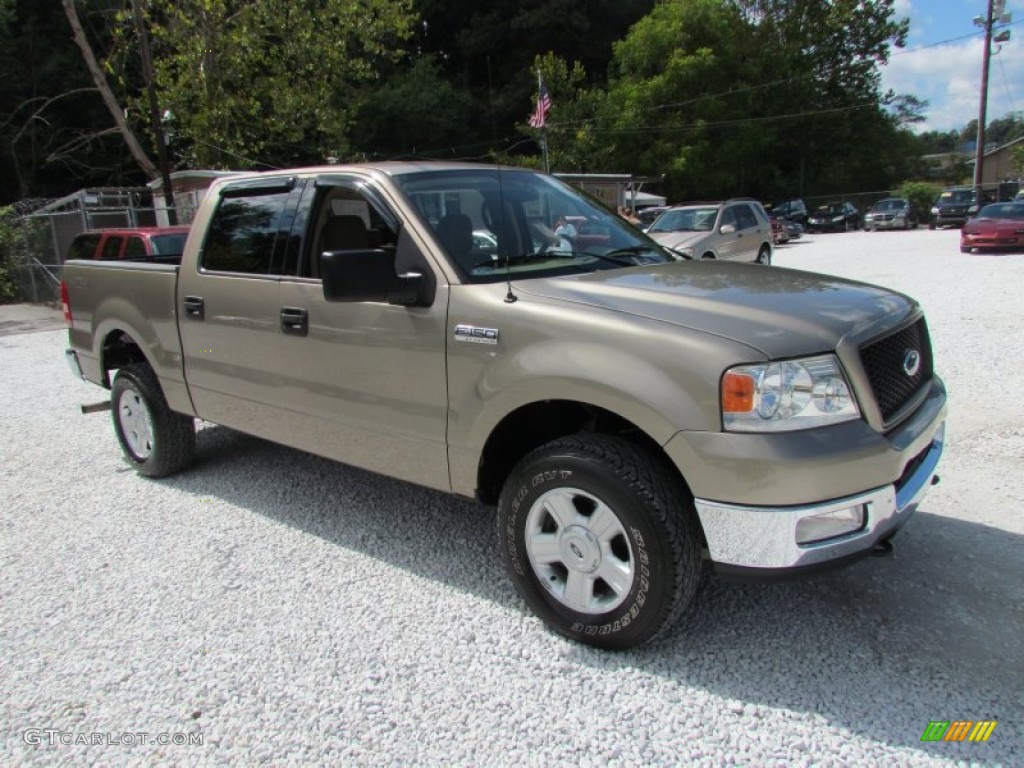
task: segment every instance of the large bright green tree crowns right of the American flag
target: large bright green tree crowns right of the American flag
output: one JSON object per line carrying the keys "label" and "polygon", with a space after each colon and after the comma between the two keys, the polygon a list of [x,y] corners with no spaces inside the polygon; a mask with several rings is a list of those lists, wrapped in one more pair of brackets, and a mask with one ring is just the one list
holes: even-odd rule
{"label": "large bright green tree crowns right of the American flag", "polygon": [[574,167],[553,166],[664,176],[675,200],[885,188],[924,106],[879,90],[905,36],[892,0],[665,0],[614,43],[606,87],[556,99],[552,156]]}

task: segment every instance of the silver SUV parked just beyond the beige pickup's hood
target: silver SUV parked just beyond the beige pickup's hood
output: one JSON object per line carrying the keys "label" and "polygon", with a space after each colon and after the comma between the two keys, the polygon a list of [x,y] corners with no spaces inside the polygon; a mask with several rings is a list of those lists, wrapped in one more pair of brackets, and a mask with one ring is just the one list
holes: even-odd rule
{"label": "silver SUV parked just beyond the beige pickup's hood", "polygon": [[771,263],[771,222],[756,200],[673,206],[647,234],[690,259]]}

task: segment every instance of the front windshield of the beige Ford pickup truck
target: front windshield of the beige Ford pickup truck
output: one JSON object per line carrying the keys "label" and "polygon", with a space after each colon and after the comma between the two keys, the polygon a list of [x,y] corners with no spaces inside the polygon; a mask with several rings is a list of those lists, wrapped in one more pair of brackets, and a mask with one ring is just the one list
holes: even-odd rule
{"label": "front windshield of the beige Ford pickup truck", "polygon": [[469,283],[675,260],[552,176],[481,167],[401,173],[394,180]]}

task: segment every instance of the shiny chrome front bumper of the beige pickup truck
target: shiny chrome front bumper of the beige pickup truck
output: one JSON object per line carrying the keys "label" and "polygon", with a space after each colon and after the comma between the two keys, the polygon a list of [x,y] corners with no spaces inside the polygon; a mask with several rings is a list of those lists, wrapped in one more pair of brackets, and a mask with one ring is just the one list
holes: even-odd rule
{"label": "shiny chrome front bumper of the beige pickup truck", "polygon": [[[905,523],[928,493],[942,455],[945,425],[939,427],[920,463],[897,484],[821,504],[752,507],[695,499],[711,560],[727,569],[800,570],[870,552]],[[810,544],[797,542],[805,517],[861,505],[859,530]]]}

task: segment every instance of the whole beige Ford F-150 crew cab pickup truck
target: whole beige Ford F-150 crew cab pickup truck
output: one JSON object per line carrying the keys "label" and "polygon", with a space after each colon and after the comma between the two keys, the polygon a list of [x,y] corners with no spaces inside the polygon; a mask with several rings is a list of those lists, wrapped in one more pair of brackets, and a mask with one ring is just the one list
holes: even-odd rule
{"label": "whole beige Ford F-150 crew cab pickup truck", "polygon": [[529,170],[225,177],[180,265],[70,261],[62,298],[139,473],[186,468],[202,419],[496,505],[526,602],[605,648],[664,632],[709,568],[887,551],[942,453],[914,301],[681,259]]}

